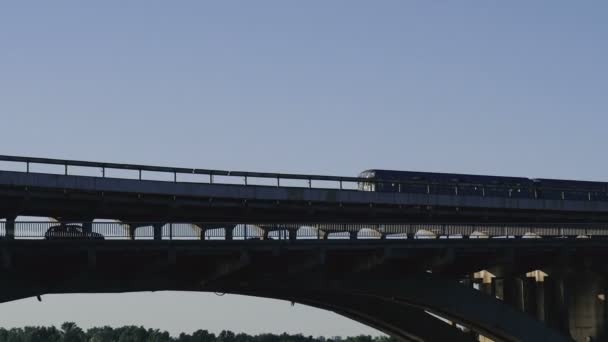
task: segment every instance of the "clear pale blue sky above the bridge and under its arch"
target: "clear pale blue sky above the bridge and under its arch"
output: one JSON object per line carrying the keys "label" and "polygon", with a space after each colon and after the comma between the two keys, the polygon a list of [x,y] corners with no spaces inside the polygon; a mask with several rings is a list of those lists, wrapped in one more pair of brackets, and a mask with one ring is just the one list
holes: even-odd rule
{"label": "clear pale blue sky above the bridge and under its arch", "polygon": [[[608,181],[605,1],[3,1],[0,153]],[[373,332],[213,294],[46,296],[5,326]]]}

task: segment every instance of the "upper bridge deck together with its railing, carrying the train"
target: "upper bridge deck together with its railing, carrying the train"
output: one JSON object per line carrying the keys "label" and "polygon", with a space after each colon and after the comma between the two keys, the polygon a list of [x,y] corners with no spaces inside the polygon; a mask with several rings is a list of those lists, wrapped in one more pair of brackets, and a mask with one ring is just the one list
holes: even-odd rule
{"label": "upper bridge deck together with its railing, carrying the train", "polygon": [[361,191],[361,182],[382,181],[357,177],[15,156],[0,156],[0,161],[1,217],[141,222],[608,222],[608,201],[458,191],[421,194],[408,192],[411,182],[403,182],[398,192]]}

